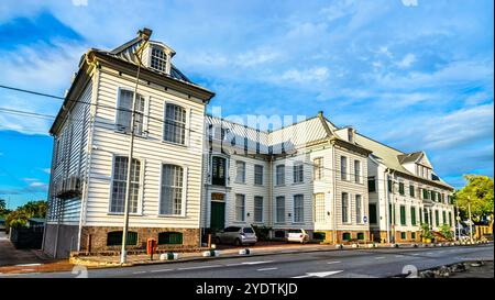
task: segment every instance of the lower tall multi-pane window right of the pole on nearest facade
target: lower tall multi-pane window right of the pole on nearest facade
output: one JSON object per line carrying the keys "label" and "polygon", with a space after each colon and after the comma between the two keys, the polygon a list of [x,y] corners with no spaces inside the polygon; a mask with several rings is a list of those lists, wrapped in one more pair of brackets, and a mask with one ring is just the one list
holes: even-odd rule
{"label": "lower tall multi-pane window right of the pole on nearest facade", "polygon": [[176,165],[162,166],[162,193],[160,199],[160,214],[183,214],[184,169]]}

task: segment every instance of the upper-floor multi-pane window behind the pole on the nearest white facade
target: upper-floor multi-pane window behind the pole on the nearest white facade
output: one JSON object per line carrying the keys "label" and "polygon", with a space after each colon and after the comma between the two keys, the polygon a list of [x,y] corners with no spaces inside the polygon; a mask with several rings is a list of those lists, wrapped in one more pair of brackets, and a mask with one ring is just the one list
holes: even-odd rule
{"label": "upper-floor multi-pane window behind the pole on the nearest white facade", "polygon": [[[132,121],[132,101],[134,99],[134,92],[121,89],[119,96],[119,104],[117,108],[117,124],[116,130],[120,132],[131,132]],[[143,134],[144,124],[144,97],[138,95],[135,102],[134,114],[134,133],[138,135]]]}

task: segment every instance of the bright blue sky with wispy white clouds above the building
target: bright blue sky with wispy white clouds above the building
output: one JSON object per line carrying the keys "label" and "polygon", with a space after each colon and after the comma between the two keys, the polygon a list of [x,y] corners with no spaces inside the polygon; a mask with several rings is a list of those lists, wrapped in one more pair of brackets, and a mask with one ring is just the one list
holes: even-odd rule
{"label": "bright blue sky with wispy white clouds above the building", "polygon": [[[223,114],[306,114],[404,152],[437,173],[493,176],[493,1],[0,2],[0,84],[62,96],[87,48],[138,29],[213,90]],[[1,108],[54,115],[61,102],[0,89]],[[46,198],[50,118],[0,112],[0,198]]]}

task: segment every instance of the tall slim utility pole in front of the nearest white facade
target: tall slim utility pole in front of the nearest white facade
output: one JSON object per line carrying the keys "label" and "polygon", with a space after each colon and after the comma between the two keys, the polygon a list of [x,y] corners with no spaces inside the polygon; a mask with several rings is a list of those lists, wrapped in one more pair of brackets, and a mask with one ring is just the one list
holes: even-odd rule
{"label": "tall slim utility pole in front of the nearest white facade", "polygon": [[128,262],[128,252],[125,249],[127,243],[128,243],[128,231],[129,231],[129,205],[131,202],[131,176],[132,176],[132,155],[134,151],[134,123],[135,123],[135,101],[138,98],[138,86],[140,82],[140,73],[141,73],[141,57],[140,52],[144,48],[144,45],[146,45],[147,41],[150,41],[150,36],[152,34],[152,31],[148,29],[140,30],[139,31],[139,37],[141,41],[144,41],[144,43],[135,51],[135,56],[138,58],[138,73],[135,76],[135,87],[134,87],[134,95],[132,96],[132,111],[131,111],[131,136],[129,142],[129,155],[128,155],[128,174],[127,174],[127,180],[125,180],[125,205],[124,205],[124,224],[123,224],[123,231],[122,231],[122,251],[120,256],[120,264],[125,264]]}

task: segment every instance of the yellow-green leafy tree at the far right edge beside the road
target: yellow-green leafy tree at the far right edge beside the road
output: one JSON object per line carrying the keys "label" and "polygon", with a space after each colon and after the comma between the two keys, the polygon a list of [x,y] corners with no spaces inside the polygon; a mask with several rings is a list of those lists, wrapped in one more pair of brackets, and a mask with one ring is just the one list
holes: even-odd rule
{"label": "yellow-green leafy tree at the far right edge beside the road", "polygon": [[493,178],[481,175],[464,175],[468,184],[454,193],[454,201],[461,211],[468,212],[471,201],[471,213],[474,220],[493,214]]}

